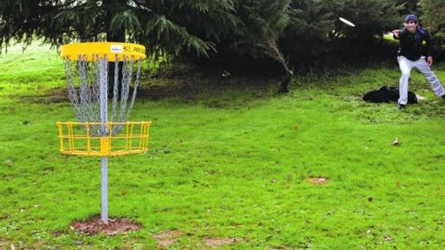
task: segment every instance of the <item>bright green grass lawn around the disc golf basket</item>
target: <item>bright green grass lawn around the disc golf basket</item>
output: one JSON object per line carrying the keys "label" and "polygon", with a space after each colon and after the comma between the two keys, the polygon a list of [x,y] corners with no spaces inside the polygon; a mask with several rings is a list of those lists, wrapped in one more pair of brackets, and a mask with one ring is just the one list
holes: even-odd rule
{"label": "bright green grass lawn around the disc golf basket", "polygon": [[[445,64],[434,69],[445,81]],[[168,230],[181,232],[170,249],[208,248],[205,238],[237,239],[223,249],[445,247],[445,102],[418,73],[410,89],[426,100],[402,112],[361,101],[397,85],[396,67],[296,78],[281,97],[228,85],[139,98],[131,120],[153,122],[150,150],[109,159],[109,214],[143,229],[116,236],[70,229],[100,213],[100,159],[59,154],[69,102],[27,98],[64,77],[48,47],[0,58],[0,247],[157,248]]]}

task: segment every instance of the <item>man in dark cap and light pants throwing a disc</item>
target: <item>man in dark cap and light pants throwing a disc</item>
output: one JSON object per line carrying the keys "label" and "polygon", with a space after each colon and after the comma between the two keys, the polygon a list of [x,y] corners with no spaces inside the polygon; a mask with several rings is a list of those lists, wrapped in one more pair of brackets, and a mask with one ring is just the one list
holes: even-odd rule
{"label": "man in dark cap and light pants throwing a disc", "polygon": [[[425,76],[436,97],[442,96],[445,99],[445,89],[437,76],[431,70],[433,64],[432,43],[428,32],[419,27],[417,17],[408,15],[405,18],[405,28],[392,31],[394,39],[400,40],[397,61],[402,71],[399,81],[398,108],[405,109],[408,102],[408,81],[412,68],[416,68]],[[422,56],[421,45],[425,41],[427,47],[427,57]]]}

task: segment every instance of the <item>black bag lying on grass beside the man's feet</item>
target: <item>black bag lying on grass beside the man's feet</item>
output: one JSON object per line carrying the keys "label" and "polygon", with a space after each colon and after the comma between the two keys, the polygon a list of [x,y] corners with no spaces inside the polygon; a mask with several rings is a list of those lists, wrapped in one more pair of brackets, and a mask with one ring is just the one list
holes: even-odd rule
{"label": "black bag lying on grass beside the man's feet", "polygon": [[[372,90],[363,96],[363,101],[370,103],[397,102],[398,88],[382,86],[379,90]],[[417,104],[417,97],[413,91],[408,91],[408,104]]]}

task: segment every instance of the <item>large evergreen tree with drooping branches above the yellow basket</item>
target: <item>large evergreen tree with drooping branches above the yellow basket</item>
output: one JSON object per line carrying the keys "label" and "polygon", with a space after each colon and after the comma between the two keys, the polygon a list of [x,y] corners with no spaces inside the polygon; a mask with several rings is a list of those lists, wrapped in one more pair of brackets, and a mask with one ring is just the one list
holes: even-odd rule
{"label": "large evergreen tree with drooping branches above the yellow basket", "polygon": [[[12,39],[59,46],[70,41],[127,41],[148,52],[206,55],[236,25],[231,0],[5,0],[0,1],[0,48]],[[203,29],[199,35],[190,30]]]}

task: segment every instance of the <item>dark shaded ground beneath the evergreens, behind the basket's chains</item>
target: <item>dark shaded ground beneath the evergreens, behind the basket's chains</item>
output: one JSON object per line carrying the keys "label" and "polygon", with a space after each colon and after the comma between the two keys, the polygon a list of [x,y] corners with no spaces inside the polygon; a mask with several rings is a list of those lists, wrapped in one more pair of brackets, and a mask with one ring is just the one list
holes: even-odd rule
{"label": "dark shaded ground beneath the evergreens, behind the basket's chains", "polygon": [[[250,101],[273,96],[278,82],[278,78],[255,77],[150,78],[139,84],[137,101],[144,103],[173,98],[178,103],[202,103],[209,108],[240,108]],[[130,94],[132,91],[130,88]],[[50,89],[43,95],[21,96],[20,101],[42,104],[70,102],[64,87]]]}

